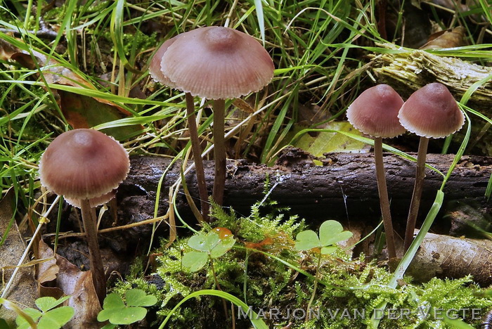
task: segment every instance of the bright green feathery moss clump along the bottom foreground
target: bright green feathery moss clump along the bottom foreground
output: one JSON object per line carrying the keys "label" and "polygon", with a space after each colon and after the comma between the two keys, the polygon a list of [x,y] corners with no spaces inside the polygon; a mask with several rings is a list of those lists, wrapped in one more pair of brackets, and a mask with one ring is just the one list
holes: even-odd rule
{"label": "bright green feathery moss clump along the bottom foreground", "polygon": [[[249,217],[214,209],[214,226],[230,229],[237,240],[233,249],[214,259],[214,269],[221,290],[251,306],[270,327],[365,328],[371,324],[375,311],[383,314],[378,309],[386,303],[380,328],[453,328],[453,318],[478,324],[479,318],[472,318],[472,309],[484,316],[492,307],[491,298],[477,295],[480,288],[470,277],[434,278],[422,285],[412,284],[411,278],[406,277],[393,289],[387,285],[391,278],[387,269],[365,262],[364,255],[351,259],[338,250],[323,255],[321,281],[309,313],[306,307],[313,292],[318,254],[316,250],[294,249],[294,238],[304,228],[304,221],[277,211],[261,214],[264,205],[254,205]],[[266,206],[273,209],[274,204],[266,202]],[[211,229],[206,225],[203,231]],[[182,266],[183,254],[190,250],[187,239],[183,239],[169,249],[157,251],[162,254],[158,257],[159,287],[137,276],[119,285],[119,290],[141,288],[160,299],[155,324],[191,292],[217,289],[210,262],[197,272]],[[227,304],[228,318],[220,298],[191,299],[171,315],[170,328],[230,328],[231,309]],[[247,312],[239,312],[237,307],[234,310],[236,328],[250,328],[249,319],[244,318]],[[311,314],[308,321],[304,319],[306,314]]]}

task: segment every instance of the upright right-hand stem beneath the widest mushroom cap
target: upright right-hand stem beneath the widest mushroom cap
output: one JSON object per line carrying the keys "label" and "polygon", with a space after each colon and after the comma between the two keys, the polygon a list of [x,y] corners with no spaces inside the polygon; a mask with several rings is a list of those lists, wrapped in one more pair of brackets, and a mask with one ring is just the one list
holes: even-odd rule
{"label": "upright right-hand stem beneath the widest mushroom cap", "polygon": [[226,186],[226,141],[225,133],[226,101],[214,100],[214,157],[215,177],[212,197],[217,205],[224,201],[224,188]]}

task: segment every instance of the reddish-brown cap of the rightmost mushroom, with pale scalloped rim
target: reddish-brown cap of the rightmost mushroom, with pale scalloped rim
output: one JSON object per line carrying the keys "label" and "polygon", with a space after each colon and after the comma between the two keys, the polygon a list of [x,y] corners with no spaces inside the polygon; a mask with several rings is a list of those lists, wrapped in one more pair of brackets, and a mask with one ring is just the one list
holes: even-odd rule
{"label": "reddish-brown cap of the rightmost mushroom, with pale scalloped rim", "polygon": [[408,131],[427,138],[443,138],[461,129],[465,115],[453,95],[434,82],[412,93],[398,115]]}

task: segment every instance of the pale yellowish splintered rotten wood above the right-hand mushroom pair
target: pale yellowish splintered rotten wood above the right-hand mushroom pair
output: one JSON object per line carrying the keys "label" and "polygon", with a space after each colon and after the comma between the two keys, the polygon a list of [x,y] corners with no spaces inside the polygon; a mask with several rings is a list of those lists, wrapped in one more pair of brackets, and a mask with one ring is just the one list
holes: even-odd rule
{"label": "pale yellowish splintered rotten wood above the right-hand mushroom pair", "polygon": [[[394,44],[380,46],[397,48]],[[492,67],[477,65],[460,58],[436,56],[423,50],[376,55],[373,65],[380,82],[390,84],[405,98],[426,84],[441,82],[459,99],[472,84],[492,75]],[[489,80],[474,91],[469,103],[482,114],[491,117],[492,82]]]}

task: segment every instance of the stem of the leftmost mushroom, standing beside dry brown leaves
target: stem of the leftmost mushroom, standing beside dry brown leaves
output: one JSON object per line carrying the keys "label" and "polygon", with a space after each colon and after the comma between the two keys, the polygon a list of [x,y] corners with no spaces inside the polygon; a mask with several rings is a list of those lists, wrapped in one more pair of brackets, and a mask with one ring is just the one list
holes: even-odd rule
{"label": "stem of the leftmost mushroom, standing beside dry brown leaves", "polygon": [[89,246],[89,266],[91,266],[92,280],[99,302],[103,305],[103,300],[106,297],[106,277],[101,251],[99,250],[96,217],[93,216],[88,199],[80,200],[80,210],[82,212],[87,245]]}

